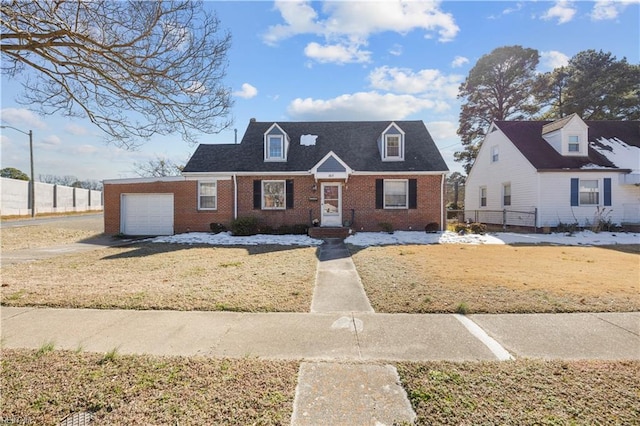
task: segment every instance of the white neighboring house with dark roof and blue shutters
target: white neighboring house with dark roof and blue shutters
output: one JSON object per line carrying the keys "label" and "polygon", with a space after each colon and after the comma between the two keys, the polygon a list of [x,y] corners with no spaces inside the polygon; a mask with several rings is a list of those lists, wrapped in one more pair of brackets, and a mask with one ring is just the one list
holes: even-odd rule
{"label": "white neighboring house with dark roof and blue shutters", "polygon": [[[492,123],[466,180],[467,216],[485,223],[640,224],[640,121]],[[492,212],[495,212],[492,214]],[[516,213],[513,213],[516,212]],[[522,212],[522,213],[517,213]]]}

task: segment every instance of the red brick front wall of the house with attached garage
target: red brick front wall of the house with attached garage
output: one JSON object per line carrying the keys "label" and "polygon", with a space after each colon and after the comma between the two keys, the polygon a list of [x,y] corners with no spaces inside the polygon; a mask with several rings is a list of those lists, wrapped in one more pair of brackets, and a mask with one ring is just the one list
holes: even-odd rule
{"label": "red brick front wall of the house with attached garage", "polygon": [[[417,179],[417,209],[376,209],[376,178]],[[257,217],[261,224],[277,228],[280,225],[308,224],[310,218],[320,219],[322,182],[313,176],[269,176],[269,180],[293,180],[294,208],[261,210],[253,208],[253,181],[258,177],[239,176],[238,216]],[[395,230],[423,231],[432,222],[442,221],[441,176],[351,176],[342,182],[342,219],[351,221],[356,231],[380,231],[381,222],[391,223]],[[197,181],[110,183],[104,186],[104,221],[107,234],[120,232],[121,194],[173,193],[174,231],[206,232],[212,222],[229,227],[233,220],[233,181],[218,181],[218,209],[198,210]],[[316,184],[316,190],[313,189]]]}

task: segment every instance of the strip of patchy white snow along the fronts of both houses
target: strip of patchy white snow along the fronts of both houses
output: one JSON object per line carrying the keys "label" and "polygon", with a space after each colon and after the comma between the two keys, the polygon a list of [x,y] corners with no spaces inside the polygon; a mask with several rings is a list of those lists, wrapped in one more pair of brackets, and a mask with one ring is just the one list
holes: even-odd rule
{"label": "strip of patchy white snow along the fronts of both houses", "polygon": [[[212,244],[212,245],[298,245],[317,246],[322,240],[306,235],[253,235],[250,237],[234,237],[230,232],[210,234],[191,232],[152,239],[154,243],[175,244]],[[454,232],[438,232],[427,234],[417,231],[358,232],[347,237],[346,243],[356,246],[380,246],[390,244],[555,244],[566,246],[592,246],[612,244],[640,244],[640,234],[625,232],[576,232],[575,234],[517,234],[513,232],[496,232],[485,235]]]}

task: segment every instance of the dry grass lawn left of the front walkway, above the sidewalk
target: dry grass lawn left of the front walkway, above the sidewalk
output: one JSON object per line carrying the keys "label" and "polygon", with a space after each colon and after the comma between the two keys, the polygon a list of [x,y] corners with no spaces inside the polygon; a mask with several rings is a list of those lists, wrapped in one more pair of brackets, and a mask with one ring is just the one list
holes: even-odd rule
{"label": "dry grass lawn left of the front walkway, above the sidewalk", "polygon": [[2,268],[7,306],[308,312],[316,249],[137,243]]}

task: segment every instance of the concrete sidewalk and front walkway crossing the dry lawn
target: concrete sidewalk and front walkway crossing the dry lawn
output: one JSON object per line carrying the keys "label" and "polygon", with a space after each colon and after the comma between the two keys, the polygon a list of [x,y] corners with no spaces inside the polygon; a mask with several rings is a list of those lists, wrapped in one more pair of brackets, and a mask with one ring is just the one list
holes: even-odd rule
{"label": "concrete sidewalk and front walkway crossing the dry lawn", "polygon": [[378,314],[344,244],[319,250],[311,313],[2,307],[2,347],[302,360],[292,425],[411,423],[393,361],[640,360],[639,312]]}

